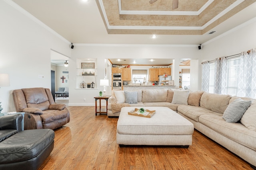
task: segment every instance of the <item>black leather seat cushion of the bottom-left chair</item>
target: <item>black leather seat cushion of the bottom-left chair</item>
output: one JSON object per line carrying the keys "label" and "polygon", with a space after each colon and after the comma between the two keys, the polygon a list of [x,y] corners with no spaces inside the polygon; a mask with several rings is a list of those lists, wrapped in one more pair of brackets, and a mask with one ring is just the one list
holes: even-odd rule
{"label": "black leather seat cushion of the bottom-left chair", "polygon": [[20,131],[1,142],[0,164],[30,160],[53,142],[54,131],[52,129]]}

